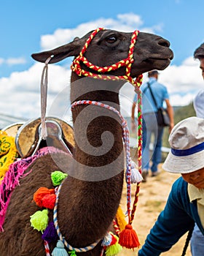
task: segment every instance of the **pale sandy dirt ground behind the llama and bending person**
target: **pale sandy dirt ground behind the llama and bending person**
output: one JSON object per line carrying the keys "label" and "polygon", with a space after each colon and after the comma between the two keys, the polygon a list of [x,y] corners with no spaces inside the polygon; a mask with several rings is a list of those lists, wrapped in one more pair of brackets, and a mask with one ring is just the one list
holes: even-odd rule
{"label": "pale sandy dirt ground behind the llama and bending person", "polygon": [[[152,228],[157,216],[165,206],[168,194],[171,189],[173,181],[180,175],[174,173],[166,173],[160,166],[160,175],[157,177],[148,176],[146,183],[141,183],[141,189],[138,197],[138,206],[136,209],[136,216],[133,220],[133,228],[138,234],[139,241],[144,244],[146,236],[149,230]],[[136,187],[133,184],[131,190],[132,194]],[[134,194],[133,194],[134,195]],[[133,198],[132,198],[133,202]],[[126,184],[124,186],[121,207],[123,211],[126,211]],[[187,233],[175,244],[168,252],[163,252],[162,256],[181,256],[184,249],[184,244],[187,238]],[[138,249],[134,252],[129,249],[122,249],[119,256],[136,256],[138,255]],[[149,255],[154,256],[154,255]],[[190,248],[188,246],[186,256],[191,256]]]}

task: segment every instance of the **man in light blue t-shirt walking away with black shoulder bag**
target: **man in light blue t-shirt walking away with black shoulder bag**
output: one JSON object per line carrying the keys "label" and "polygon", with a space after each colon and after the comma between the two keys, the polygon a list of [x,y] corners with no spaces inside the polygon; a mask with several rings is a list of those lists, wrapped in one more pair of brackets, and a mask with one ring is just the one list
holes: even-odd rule
{"label": "man in light blue t-shirt walking away with black shoulder bag", "polygon": [[[143,182],[146,182],[146,176],[149,173],[149,161],[152,158],[152,176],[157,176],[158,164],[160,164],[162,159],[162,135],[163,127],[157,126],[156,112],[157,108],[162,107],[163,102],[167,106],[168,115],[170,117],[170,127],[173,128],[173,108],[170,105],[169,95],[167,88],[158,83],[159,73],[157,70],[152,70],[148,72],[149,81],[141,86],[142,91],[142,114],[143,114],[143,152],[142,152],[142,176]],[[152,93],[157,102],[157,107],[154,104],[154,99],[152,99],[151,92],[148,88],[151,86]],[[131,114],[131,129],[133,132],[136,131],[135,122],[135,108],[136,108],[137,94],[133,99],[132,114]],[[151,143],[151,137],[154,135],[154,150],[152,156],[150,155],[149,145]]]}

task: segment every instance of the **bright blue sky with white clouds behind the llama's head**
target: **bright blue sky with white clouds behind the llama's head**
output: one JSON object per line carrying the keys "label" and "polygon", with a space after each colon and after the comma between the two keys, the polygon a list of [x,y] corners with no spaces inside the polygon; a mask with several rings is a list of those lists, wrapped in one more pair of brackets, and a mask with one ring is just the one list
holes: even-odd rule
{"label": "bright blue sky with white clouds behind the llama's head", "polygon": [[[98,26],[139,29],[168,39],[175,57],[161,72],[160,82],[168,87],[173,105],[188,104],[203,87],[199,63],[192,59],[195,48],[204,42],[203,10],[203,0],[1,1],[0,113],[39,116],[42,66],[31,59],[31,53],[71,42]],[[70,61],[50,68],[50,105],[68,83]],[[124,97],[126,92],[127,88]],[[127,94],[124,105],[133,98],[133,91],[130,94],[128,89]]]}

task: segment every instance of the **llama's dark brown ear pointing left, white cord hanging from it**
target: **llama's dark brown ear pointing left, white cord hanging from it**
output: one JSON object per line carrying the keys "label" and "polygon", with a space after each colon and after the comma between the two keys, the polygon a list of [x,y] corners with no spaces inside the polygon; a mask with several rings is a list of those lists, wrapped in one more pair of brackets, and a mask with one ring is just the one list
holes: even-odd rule
{"label": "llama's dark brown ear pointing left, white cord hanging from it", "polygon": [[78,56],[84,44],[85,39],[79,39],[79,37],[76,37],[73,42],[66,45],[62,45],[58,48],[47,50],[42,53],[33,53],[31,56],[36,61],[43,63],[52,56],[49,63],[56,63],[70,56]]}

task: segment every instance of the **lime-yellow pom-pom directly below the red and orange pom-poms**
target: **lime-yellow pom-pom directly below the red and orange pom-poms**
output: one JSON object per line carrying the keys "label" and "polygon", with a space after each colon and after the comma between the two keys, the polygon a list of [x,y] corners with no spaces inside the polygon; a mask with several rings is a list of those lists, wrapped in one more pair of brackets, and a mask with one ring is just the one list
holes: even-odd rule
{"label": "lime-yellow pom-pom directly below the red and orange pom-poms", "polygon": [[48,225],[48,210],[36,211],[36,213],[31,216],[30,222],[31,227],[34,227],[35,230],[44,231]]}

